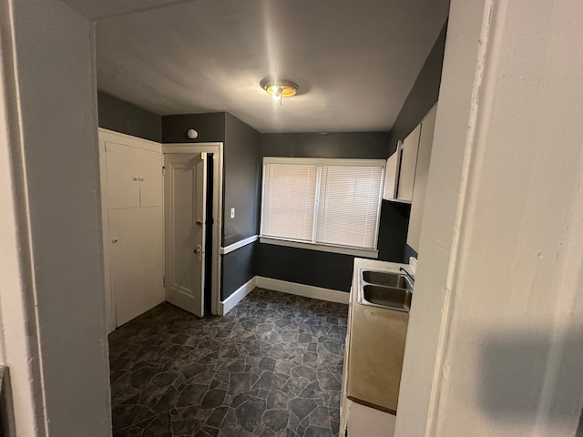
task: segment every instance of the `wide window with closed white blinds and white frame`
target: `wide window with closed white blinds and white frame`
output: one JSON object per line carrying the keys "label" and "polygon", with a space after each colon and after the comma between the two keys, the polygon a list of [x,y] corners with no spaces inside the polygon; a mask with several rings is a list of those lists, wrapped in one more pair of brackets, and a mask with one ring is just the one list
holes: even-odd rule
{"label": "wide window with closed white blinds and white frame", "polygon": [[264,158],[261,241],[376,256],[384,162]]}

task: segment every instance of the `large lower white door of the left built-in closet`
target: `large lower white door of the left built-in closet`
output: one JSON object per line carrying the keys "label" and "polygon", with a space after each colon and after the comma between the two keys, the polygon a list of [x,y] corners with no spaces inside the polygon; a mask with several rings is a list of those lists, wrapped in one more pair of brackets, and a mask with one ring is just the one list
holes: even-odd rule
{"label": "large lower white door of the left built-in closet", "polygon": [[111,283],[119,326],[163,300],[161,207],[111,209],[109,225]]}

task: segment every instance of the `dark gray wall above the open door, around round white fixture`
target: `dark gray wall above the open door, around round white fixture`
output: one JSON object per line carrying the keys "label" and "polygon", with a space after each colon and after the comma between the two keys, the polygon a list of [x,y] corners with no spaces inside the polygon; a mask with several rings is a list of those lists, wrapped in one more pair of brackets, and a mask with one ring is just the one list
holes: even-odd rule
{"label": "dark gray wall above the open door, around round white fixture", "polygon": [[[199,137],[190,139],[189,129],[199,133]],[[209,143],[225,140],[225,113],[183,114],[162,117],[163,143]]]}

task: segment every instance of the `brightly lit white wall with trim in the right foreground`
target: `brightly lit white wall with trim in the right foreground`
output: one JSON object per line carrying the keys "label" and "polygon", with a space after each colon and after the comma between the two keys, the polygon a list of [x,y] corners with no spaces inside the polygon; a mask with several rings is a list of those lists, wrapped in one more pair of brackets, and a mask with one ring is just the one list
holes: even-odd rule
{"label": "brightly lit white wall with trim in the right foreground", "polygon": [[453,0],[397,436],[573,436],[583,4]]}

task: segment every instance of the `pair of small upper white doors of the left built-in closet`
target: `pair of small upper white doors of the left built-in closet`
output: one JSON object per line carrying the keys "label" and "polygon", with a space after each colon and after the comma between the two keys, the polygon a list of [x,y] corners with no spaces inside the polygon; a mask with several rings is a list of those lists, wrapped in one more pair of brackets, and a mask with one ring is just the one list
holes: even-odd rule
{"label": "pair of small upper white doors of the left built-in closet", "polygon": [[106,142],[109,208],[158,207],[162,204],[159,152]]}

